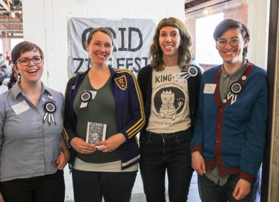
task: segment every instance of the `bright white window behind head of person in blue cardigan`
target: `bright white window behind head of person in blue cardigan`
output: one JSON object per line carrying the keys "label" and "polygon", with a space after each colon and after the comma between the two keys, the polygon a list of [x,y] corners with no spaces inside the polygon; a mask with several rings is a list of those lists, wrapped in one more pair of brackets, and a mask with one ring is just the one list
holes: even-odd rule
{"label": "bright white window behind head of person in blue cardigan", "polygon": [[199,63],[211,65],[223,63],[213,39],[214,29],[222,20],[224,20],[224,13],[196,20],[196,59]]}

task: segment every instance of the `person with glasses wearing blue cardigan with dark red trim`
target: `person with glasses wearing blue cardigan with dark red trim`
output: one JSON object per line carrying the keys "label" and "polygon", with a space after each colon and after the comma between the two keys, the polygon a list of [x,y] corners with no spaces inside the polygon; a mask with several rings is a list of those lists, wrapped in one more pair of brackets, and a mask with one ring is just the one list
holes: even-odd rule
{"label": "person with glasses wearing blue cardigan with dark red trim", "polygon": [[250,33],[223,20],[213,33],[223,64],[202,75],[191,141],[203,202],[254,201],[267,117],[266,71],[246,59]]}

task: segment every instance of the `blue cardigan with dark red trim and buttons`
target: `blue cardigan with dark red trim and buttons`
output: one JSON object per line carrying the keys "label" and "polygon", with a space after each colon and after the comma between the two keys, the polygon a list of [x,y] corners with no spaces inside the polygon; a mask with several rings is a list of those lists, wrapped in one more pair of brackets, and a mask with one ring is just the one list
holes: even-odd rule
{"label": "blue cardigan with dark red trim and buttons", "polygon": [[[202,75],[199,109],[191,151],[199,150],[206,169],[218,166],[220,176],[240,173],[252,182],[262,163],[267,118],[266,71],[250,64],[239,79],[242,91],[236,102],[223,102],[218,90],[220,66]],[[249,69],[249,70],[248,70]],[[204,93],[205,84],[216,84],[214,93]]]}

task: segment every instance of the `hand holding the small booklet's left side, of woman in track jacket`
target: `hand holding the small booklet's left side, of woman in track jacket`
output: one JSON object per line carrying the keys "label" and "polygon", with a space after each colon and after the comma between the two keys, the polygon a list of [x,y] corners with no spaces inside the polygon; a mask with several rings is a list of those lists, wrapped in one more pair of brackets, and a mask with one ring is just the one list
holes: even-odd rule
{"label": "hand holding the small booklet's left side, of woman in track jacket", "polygon": [[84,139],[81,139],[79,137],[74,137],[72,141],[70,141],[70,146],[72,146],[77,151],[77,153],[82,154],[90,154],[96,151],[95,145],[86,143]]}

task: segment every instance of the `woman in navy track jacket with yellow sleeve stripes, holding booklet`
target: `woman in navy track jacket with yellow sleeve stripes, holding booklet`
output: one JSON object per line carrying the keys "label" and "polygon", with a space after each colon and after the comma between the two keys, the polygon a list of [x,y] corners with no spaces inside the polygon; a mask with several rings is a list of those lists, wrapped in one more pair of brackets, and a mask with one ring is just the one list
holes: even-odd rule
{"label": "woman in navy track jacket with yellow sleeve stripes, holding booklet", "polygon": [[93,29],[86,40],[91,68],[73,76],[66,88],[64,126],[75,202],[128,202],[137,176],[142,94],[132,72],[107,64],[112,49],[112,33]]}

